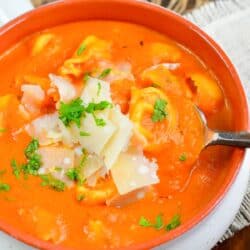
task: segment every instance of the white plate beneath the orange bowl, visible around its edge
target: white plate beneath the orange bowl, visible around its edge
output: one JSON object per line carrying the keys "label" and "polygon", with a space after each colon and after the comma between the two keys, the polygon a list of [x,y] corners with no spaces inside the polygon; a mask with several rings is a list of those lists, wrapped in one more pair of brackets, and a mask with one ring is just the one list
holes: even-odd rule
{"label": "white plate beneath the orange bowl, visible around its edge", "polygon": [[[31,8],[26,0],[0,0],[0,24],[8,18],[13,18]],[[216,209],[205,218],[199,225],[176,240],[169,242],[157,249],[161,250],[206,250],[210,249],[220,239],[237,213],[243,195],[245,193],[249,177],[250,151],[247,151],[244,164],[237,176],[236,181],[229,192],[216,207]],[[0,249],[4,250],[32,250],[8,235],[0,232]]]}

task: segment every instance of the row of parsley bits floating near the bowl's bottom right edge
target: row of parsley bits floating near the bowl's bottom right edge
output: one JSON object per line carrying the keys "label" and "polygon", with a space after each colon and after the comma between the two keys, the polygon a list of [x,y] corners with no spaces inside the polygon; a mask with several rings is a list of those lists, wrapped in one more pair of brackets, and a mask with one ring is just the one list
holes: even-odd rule
{"label": "row of parsley bits floating near the bowl's bottom right edge", "polygon": [[172,229],[175,229],[176,227],[178,227],[181,224],[180,215],[175,215],[167,225],[164,226],[164,224],[165,223],[163,221],[162,214],[157,215],[154,222],[151,222],[150,220],[148,220],[144,216],[141,216],[141,218],[139,220],[139,225],[141,227],[152,227],[152,228],[155,228],[156,230],[161,230],[161,229],[165,228],[167,231],[170,231]]}

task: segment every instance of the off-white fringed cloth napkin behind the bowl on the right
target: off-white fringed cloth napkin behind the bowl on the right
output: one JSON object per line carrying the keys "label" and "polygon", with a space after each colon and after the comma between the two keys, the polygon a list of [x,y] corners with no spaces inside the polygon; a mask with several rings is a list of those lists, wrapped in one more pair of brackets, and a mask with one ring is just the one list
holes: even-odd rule
{"label": "off-white fringed cloth napkin behind the bowl on the right", "polygon": [[[216,0],[186,15],[217,41],[237,68],[250,100],[250,0]],[[250,225],[250,181],[240,211],[220,241]]]}

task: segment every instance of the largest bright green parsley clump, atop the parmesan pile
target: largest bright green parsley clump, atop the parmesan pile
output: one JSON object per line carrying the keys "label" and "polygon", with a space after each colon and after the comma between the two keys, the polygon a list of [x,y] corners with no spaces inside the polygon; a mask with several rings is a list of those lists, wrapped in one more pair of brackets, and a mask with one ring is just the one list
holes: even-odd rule
{"label": "largest bright green parsley clump, atop the parmesan pile", "polygon": [[61,102],[59,108],[59,118],[67,127],[71,122],[75,122],[78,127],[81,125],[81,117],[84,116],[84,106],[82,100],[77,98],[70,103]]}

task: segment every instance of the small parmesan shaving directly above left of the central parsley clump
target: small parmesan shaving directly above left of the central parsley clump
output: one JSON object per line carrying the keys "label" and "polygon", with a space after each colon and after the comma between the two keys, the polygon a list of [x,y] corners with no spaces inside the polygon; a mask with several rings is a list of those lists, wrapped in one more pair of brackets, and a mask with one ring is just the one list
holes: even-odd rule
{"label": "small parmesan shaving directly above left of the central parsley clump", "polygon": [[56,76],[54,74],[49,74],[52,86],[56,86],[58,89],[60,100],[63,102],[69,102],[76,98],[77,91],[74,85],[67,79]]}

